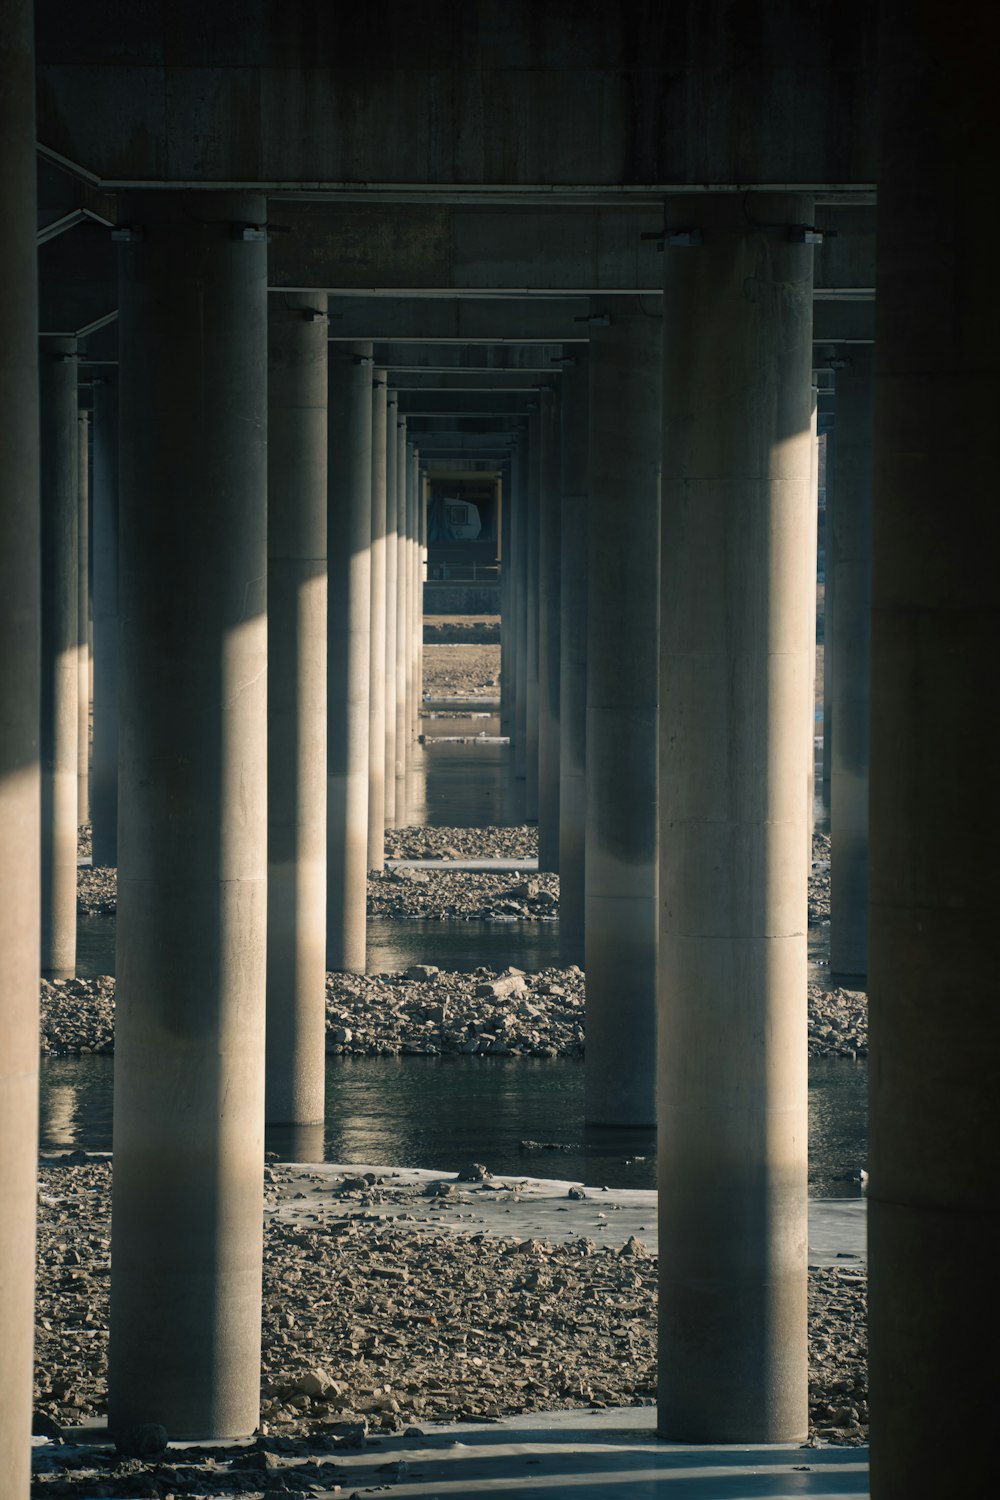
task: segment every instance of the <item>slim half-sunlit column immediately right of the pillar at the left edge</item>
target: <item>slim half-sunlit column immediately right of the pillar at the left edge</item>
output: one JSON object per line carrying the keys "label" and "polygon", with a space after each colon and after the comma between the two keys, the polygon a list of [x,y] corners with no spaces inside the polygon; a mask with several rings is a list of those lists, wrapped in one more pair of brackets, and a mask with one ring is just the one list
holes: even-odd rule
{"label": "slim half-sunlit column immediately right of the pillar at the left edge", "polygon": [[42,974],[76,972],[79,450],[76,340],[45,339],[42,448]]}

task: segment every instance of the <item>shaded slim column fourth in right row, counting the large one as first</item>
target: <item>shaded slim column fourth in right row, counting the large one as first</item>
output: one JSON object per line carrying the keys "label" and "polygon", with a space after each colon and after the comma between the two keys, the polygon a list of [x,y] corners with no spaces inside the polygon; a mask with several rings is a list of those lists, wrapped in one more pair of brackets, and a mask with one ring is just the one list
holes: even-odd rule
{"label": "shaded slim column fourth in right row, counting the large one as first", "polygon": [[559,398],[538,398],[538,868],[559,868]]}

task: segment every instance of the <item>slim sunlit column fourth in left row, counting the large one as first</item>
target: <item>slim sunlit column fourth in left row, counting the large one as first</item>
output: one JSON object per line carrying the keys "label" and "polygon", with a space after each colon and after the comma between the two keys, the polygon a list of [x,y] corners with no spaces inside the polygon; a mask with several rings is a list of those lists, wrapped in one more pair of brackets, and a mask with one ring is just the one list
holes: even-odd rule
{"label": "slim sunlit column fourth in left row, counting the large one as first", "polygon": [[372,384],[372,634],[367,867],[385,868],[385,370]]}

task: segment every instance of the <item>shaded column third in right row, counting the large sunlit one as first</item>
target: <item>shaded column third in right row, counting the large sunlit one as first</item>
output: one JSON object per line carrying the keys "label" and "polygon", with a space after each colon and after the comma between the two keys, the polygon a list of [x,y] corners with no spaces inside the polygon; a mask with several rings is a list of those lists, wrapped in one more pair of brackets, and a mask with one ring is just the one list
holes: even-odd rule
{"label": "shaded column third in right row, counting the large sunlit one as first", "polygon": [[559,954],[583,964],[586,852],[586,528],[589,357],[574,348],[561,392]]}

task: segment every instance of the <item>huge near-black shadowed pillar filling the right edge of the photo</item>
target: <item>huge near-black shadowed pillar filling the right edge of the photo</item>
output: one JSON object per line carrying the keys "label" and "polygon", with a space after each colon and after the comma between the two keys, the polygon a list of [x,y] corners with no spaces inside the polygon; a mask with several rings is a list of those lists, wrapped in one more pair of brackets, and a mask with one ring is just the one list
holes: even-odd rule
{"label": "huge near-black shadowed pillar filling the right edge of the photo", "polygon": [[[1000,882],[978,747],[1000,652],[1000,225],[984,192],[1000,12],[978,10],[975,33],[927,3],[886,0],[880,16],[871,1496],[931,1500],[996,1488]],[[928,1413],[960,1442],[928,1442]]]}

